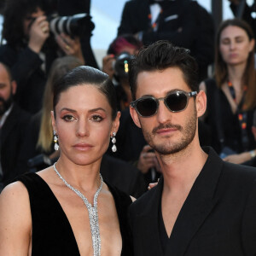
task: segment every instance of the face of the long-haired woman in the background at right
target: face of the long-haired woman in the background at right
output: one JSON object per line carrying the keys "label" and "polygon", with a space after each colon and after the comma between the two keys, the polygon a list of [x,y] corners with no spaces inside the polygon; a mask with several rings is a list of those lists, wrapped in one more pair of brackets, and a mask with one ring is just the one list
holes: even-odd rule
{"label": "face of the long-haired woman in the background at right", "polygon": [[247,32],[239,26],[227,26],[220,34],[219,51],[227,65],[247,62],[254,40],[249,40]]}

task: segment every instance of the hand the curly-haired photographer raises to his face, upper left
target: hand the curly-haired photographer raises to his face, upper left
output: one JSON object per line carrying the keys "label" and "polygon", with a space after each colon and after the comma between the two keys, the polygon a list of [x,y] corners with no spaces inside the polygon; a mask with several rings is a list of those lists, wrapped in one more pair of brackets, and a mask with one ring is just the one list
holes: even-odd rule
{"label": "hand the curly-haired photographer raises to his face, upper left", "polygon": [[28,47],[39,53],[45,40],[49,38],[49,22],[46,20],[46,16],[39,16],[32,22],[28,37]]}

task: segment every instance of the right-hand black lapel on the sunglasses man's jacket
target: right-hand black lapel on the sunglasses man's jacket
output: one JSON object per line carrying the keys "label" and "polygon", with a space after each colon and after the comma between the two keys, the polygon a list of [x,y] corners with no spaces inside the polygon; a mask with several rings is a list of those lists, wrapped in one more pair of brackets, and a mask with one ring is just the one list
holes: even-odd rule
{"label": "right-hand black lapel on the sunglasses man's jacket", "polygon": [[179,212],[165,255],[186,253],[190,241],[218,201],[214,195],[222,168],[223,161],[210,149],[207,162]]}

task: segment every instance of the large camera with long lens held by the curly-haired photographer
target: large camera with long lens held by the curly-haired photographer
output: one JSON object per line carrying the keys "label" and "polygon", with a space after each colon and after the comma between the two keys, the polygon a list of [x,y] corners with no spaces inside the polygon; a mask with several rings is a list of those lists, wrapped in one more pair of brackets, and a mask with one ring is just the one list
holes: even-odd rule
{"label": "large camera with long lens held by the curly-haired photographer", "polygon": [[90,34],[94,29],[94,23],[88,14],[78,14],[72,16],[59,16],[57,14],[49,15],[49,30],[54,34],[61,32],[74,37]]}

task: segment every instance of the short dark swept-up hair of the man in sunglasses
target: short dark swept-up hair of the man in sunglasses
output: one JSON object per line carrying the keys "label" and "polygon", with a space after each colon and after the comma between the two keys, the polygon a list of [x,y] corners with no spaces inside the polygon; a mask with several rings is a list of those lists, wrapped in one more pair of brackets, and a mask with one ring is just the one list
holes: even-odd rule
{"label": "short dark swept-up hair of the man in sunglasses", "polygon": [[178,67],[189,88],[199,90],[198,67],[195,59],[189,55],[189,49],[173,46],[168,41],[158,41],[141,49],[137,57],[131,60],[129,82],[133,101],[136,100],[138,73],[164,70],[168,67]]}

